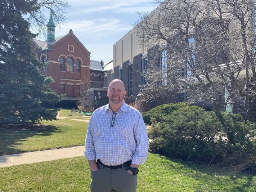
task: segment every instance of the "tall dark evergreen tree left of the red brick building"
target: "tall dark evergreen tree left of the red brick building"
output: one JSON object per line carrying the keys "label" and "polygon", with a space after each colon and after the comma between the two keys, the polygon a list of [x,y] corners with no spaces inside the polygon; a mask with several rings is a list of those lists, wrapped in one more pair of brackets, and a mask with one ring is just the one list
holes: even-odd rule
{"label": "tall dark evergreen tree left of the red brick building", "polygon": [[56,95],[48,87],[53,79],[40,71],[47,64],[33,53],[31,40],[37,34],[30,32],[31,22],[23,16],[40,23],[42,20],[36,17],[37,13],[42,14],[40,9],[48,8],[58,16],[58,6],[67,8],[68,4],[61,0],[0,2],[0,124],[56,120],[58,109],[46,109],[41,103],[47,100],[57,102],[63,96]]}

